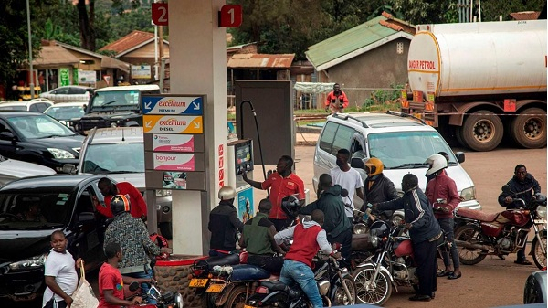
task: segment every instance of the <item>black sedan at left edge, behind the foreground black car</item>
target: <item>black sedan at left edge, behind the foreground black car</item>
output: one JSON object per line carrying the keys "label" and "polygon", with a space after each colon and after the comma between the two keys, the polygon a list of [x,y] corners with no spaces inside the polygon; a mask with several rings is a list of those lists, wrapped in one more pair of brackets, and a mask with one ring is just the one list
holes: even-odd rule
{"label": "black sedan at left edge, behind the foreground black car", "polygon": [[84,137],[39,112],[0,112],[0,154],[58,173],[78,165]]}

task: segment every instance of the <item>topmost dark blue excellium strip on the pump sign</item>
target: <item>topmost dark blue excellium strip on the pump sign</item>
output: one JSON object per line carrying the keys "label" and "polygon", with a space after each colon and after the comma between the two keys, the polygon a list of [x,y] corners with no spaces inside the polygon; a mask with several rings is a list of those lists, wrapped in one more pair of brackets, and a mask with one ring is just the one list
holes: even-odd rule
{"label": "topmost dark blue excellium strip on the pump sign", "polygon": [[204,114],[204,100],[199,96],[144,96],[142,114]]}

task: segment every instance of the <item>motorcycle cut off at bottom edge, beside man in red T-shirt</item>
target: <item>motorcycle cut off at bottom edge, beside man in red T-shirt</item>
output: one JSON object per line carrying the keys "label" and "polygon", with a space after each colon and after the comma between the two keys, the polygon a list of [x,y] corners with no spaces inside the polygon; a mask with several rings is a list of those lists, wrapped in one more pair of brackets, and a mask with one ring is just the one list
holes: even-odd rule
{"label": "motorcycle cut off at bottom edge, beside man in red T-shirt", "polygon": [[[146,293],[142,293],[141,285],[137,281],[132,281],[129,286],[129,291],[126,299],[131,300],[135,296],[142,297],[142,304],[128,306],[128,308],[183,308],[183,296],[179,292],[161,292],[155,285],[155,282],[150,282],[150,289]],[[149,303],[151,300],[156,301],[155,304]]]}

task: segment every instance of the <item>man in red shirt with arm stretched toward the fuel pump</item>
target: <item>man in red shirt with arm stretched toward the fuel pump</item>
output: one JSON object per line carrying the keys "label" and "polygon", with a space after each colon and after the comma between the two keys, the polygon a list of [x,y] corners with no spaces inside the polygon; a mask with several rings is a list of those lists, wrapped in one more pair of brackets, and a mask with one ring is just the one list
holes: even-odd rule
{"label": "man in red shirt with arm stretched toward the fuel pump", "polygon": [[270,188],[270,202],[272,203],[272,210],[270,211],[269,220],[272,221],[277,231],[282,230],[290,225],[290,219],[285,215],[281,209],[281,199],[284,196],[299,195],[297,198],[304,202],[304,182],[299,176],[291,172],[293,166],[293,158],[288,155],[283,155],[279,158],[278,165],[276,165],[276,172],[269,175],[264,182],[257,182],[248,179],[248,175],[242,173],[242,178],[250,186],[257,189],[266,190]]}

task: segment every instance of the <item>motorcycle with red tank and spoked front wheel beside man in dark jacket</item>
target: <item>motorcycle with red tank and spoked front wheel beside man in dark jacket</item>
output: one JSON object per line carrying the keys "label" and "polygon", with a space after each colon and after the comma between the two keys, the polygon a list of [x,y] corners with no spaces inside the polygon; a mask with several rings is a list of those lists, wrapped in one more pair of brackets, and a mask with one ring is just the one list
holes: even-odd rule
{"label": "motorcycle with red tank and spoked front wheel beside man in dark jacket", "polygon": [[398,285],[417,290],[413,245],[405,229],[401,225],[390,227],[384,220],[376,219],[370,232],[376,253],[353,271],[358,302],[382,305],[393,288],[397,292]]}

